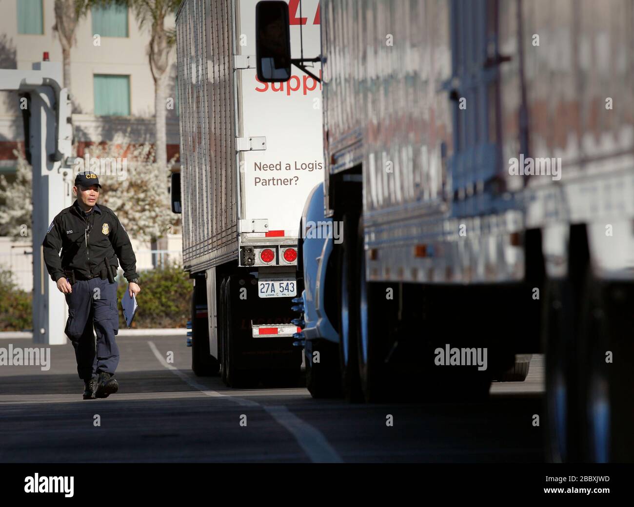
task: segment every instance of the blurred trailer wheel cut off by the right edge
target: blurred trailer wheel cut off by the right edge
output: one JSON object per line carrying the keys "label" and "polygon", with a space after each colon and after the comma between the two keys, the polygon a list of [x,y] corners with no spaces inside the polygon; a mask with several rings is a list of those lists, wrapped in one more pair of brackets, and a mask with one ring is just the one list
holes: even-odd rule
{"label": "blurred trailer wheel cut off by the right edge", "polygon": [[584,461],[634,459],[634,292],[631,283],[605,283],[588,269],[581,333]]}

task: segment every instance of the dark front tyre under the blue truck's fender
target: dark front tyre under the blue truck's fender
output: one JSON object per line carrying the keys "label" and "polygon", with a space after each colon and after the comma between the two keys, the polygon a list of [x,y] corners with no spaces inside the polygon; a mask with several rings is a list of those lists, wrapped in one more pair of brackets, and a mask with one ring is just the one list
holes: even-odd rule
{"label": "dark front tyre under the blue truck's fender", "polygon": [[[314,352],[319,352],[318,356]],[[328,340],[306,342],[306,388],[313,398],[337,398],[341,392],[339,347]],[[319,358],[319,362],[313,361]]]}

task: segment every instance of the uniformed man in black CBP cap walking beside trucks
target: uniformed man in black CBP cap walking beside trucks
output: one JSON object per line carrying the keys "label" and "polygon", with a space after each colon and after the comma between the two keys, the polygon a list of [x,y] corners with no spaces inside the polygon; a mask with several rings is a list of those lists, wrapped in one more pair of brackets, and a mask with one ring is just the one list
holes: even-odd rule
{"label": "uniformed man in black CBP cap walking beside trucks", "polygon": [[141,290],[130,238],[117,215],[97,205],[100,188],[96,174],[78,173],[73,187],[77,200],[53,219],[42,242],[48,273],[66,295],[65,333],[75,348],[77,373],[84,380],[84,399],[105,398],[119,390],[113,377],[119,364],[114,281],[119,261],[130,296]]}

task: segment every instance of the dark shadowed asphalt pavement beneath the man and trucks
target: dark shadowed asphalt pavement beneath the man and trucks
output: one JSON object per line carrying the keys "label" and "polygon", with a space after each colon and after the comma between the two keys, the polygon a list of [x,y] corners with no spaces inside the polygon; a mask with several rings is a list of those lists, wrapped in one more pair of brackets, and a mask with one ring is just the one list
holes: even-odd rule
{"label": "dark shadowed asphalt pavement beneath the man and trucks", "polygon": [[[544,459],[543,427],[533,426],[543,413],[541,356],[525,382],[494,383],[484,402],[348,404],[312,399],[304,387],[238,390],[197,377],[183,336],[117,342],[120,388],[107,399],[82,400],[70,343],[51,347],[48,371],[0,366],[0,462]],[[0,340],[0,347],[9,343],[36,346]]]}

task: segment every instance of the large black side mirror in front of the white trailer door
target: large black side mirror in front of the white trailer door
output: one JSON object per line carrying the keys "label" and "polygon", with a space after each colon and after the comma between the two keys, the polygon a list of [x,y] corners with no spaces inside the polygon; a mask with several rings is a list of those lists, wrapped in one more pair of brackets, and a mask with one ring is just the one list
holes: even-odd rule
{"label": "large black side mirror in front of the white trailer door", "polygon": [[290,78],[290,27],[288,4],[263,0],[256,4],[257,79],[283,82]]}

